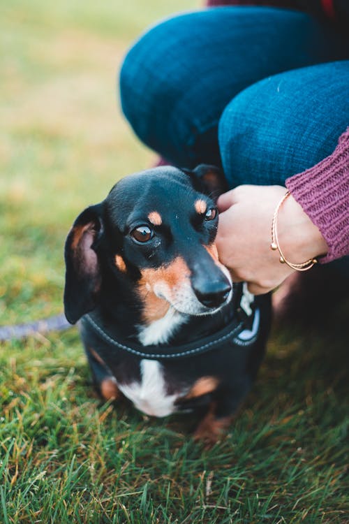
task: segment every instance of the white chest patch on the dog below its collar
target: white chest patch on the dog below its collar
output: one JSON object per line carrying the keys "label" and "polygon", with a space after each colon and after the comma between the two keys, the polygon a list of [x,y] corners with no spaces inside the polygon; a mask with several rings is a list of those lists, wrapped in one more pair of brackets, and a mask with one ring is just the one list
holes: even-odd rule
{"label": "white chest patch on the dog below its collar", "polygon": [[137,409],[147,415],[167,416],[176,411],[174,401],[179,394],[166,393],[162,365],[158,361],[140,361],[141,381],[118,384],[119,389]]}

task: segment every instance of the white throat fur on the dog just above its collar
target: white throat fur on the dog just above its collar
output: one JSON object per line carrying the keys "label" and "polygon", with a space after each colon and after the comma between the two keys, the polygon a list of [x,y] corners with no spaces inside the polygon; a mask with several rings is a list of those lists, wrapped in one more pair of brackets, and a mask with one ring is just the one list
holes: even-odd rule
{"label": "white throat fur on the dog just above its collar", "polygon": [[165,344],[184,321],[186,321],[186,317],[170,306],[162,319],[151,322],[145,328],[143,326],[140,328],[138,340],[143,346]]}

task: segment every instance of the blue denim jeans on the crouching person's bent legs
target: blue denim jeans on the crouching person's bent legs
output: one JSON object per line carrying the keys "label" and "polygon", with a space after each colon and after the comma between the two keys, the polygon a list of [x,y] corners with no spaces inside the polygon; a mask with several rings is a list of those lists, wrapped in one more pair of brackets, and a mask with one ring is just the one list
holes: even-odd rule
{"label": "blue denim jeans on the crouching person's bent legs", "polygon": [[331,154],[349,124],[348,44],[295,10],[179,15],[129,50],[122,109],[174,165],[222,165],[230,187],[284,184]]}

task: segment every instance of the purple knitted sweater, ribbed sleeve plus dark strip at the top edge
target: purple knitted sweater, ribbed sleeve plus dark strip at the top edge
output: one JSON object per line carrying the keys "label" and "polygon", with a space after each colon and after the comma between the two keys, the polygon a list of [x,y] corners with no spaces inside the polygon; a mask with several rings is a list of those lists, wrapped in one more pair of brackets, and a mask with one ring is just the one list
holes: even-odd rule
{"label": "purple knitted sweater, ribbed sleeve plus dark strip at the top edge", "polygon": [[[207,6],[264,5],[295,8],[334,23],[348,24],[348,0],[208,0]],[[347,26],[348,27],[348,26]],[[325,238],[329,251],[319,260],[327,263],[349,254],[349,127],[334,152],[285,182],[295,200]]]}

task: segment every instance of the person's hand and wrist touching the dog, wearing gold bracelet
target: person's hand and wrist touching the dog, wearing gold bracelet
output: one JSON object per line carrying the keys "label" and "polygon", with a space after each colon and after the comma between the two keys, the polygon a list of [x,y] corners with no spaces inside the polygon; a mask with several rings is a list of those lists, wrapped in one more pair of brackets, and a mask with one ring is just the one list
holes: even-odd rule
{"label": "person's hand and wrist touching the dog, wearing gold bracelet", "polygon": [[[255,295],[271,291],[295,271],[270,248],[273,215],[285,192],[282,186],[243,185],[218,198],[219,259],[233,281],[246,281]],[[289,261],[301,263],[327,253],[325,239],[292,194],[277,220],[279,244]]]}

